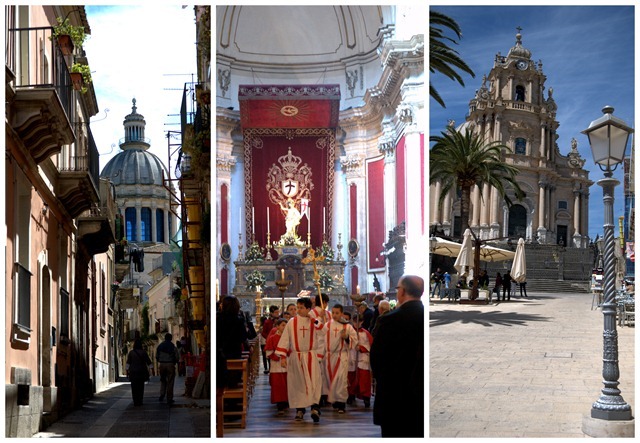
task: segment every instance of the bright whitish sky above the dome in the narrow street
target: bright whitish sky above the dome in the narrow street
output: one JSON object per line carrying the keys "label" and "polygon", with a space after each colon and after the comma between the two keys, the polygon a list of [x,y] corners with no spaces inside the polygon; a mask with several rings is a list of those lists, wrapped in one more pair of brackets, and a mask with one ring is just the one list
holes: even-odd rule
{"label": "bright whitish sky above the dome in the narrow street", "polygon": [[[100,108],[91,119],[100,170],[121,152],[122,122],[131,113],[134,97],[138,113],[145,118],[149,151],[167,166],[166,131],[180,130],[176,114],[182,88],[196,73],[193,6],[146,3],[85,8],[91,36],[84,49]],[[175,161],[171,160],[171,169]]]}

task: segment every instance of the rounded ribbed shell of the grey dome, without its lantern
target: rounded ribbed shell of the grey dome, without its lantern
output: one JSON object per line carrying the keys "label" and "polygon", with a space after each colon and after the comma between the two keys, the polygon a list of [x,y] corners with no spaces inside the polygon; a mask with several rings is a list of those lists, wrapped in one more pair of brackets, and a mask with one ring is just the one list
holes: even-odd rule
{"label": "rounded ribbed shell of the grey dome, without its lantern", "polygon": [[102,169],[101,178],[108,178],[114,185],[159,185],[162,186],[162,172],[168,177],[162,161],[143,149],[127,149],[115,157]]}

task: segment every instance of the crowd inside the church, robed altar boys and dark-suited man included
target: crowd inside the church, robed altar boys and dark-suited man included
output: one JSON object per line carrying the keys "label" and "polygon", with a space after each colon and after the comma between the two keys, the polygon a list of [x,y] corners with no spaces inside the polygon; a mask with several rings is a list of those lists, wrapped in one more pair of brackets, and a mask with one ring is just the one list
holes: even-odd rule
{"label": "crowd inside the church, robed altar boys and dark-suited man included", "polygon": [[[270,306],[258,336],[275,415],[291,409],[294,420],[302,421],[309,408],[319,423],[322,408],[345,414],[360,401],[370,408],[375,387],[373,421],[382,436],[423,437],[423,292],[422,278],[405,275],[393,310],[382,294],[373,297],[372,307],[356,303],[353,315],[326,294],[300,297],[283,313]],[[239,358],[247,326],[237,298],[224,297],[216,323],[218,364]],[[217,374],[222,384],[237,382],[220,366]]]}

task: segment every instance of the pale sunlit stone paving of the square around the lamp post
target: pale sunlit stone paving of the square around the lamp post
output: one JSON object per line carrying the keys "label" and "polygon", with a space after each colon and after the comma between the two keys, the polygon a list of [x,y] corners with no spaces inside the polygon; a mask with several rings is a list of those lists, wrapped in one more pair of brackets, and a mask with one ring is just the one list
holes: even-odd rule
{"label": "pale sunlit stone paving of the square around the lamp post", "polygon": [[[432,302],[428,435],[585,437],[582,418],[603,388],[603,315],[591,299]],[[619,389],[635,416],[634,336],[618,326]]]}

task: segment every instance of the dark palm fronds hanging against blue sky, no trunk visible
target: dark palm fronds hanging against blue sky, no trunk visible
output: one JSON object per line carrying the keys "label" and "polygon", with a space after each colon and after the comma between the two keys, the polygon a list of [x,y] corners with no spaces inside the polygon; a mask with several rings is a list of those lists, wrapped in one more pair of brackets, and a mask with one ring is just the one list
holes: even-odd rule
{"label": "dark palm fronds hanging against blue sky, no trunk visible", "polygon": [[[429,11],[429,72],[440,72],[451,80],[457,80],[460,85],[464,86],[464,80],[456,72],[456,68],[471,74],[471,77],[475,78],[476,75],[464,60],[459,57],[458,51],[447,46],[446,41],[456,45],[458,42],[444,35],[445,28],[453,31],[458,40],[462,38],[460,26],[455,20],[440,12]],[[431,85],[431,82],[429,82],[429,95],[440,103],[443,108],[446,108],[444,100],[442,100],[436,88]]]}

